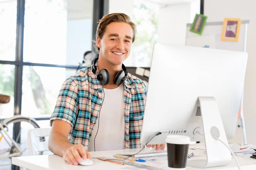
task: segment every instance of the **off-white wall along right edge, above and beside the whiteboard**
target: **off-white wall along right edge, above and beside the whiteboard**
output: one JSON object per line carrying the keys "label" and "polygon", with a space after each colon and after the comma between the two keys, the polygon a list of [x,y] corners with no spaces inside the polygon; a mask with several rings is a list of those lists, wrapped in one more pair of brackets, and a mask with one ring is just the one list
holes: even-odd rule
{"label": "off-white wall along right edge, above and beside the whiteboard", "polygon": [[[204,0],[204,14],[208,22],[223,21],[225,17],[250,20],[247,31],[247,53],[249,55],[244,81],[244,121],[247,143],[256,144],[256,1],[254,0]],[[241,130],[239,130],[241,132]],[[241,136],[241,134],[237,134]]]}

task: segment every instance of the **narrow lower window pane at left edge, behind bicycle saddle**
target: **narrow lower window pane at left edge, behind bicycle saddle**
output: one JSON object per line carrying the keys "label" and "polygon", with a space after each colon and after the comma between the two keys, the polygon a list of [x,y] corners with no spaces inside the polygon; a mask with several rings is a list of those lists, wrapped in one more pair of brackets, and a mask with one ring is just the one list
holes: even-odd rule
{"label": "narrow lower window pane at left edge, behind bicycle saddle", "polygon": [[0,104],[0,118],[13,116],[15,65],[0,64],[0,94],[11,96],[7,104]]}

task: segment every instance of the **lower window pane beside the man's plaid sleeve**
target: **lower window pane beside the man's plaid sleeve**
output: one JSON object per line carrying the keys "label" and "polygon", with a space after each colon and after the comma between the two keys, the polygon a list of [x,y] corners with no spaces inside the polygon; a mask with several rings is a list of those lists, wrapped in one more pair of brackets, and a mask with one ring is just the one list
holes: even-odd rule
{"label": "lower window pane beside the man's plaid sleeve", "polygon": [[21,114],[47,117],[52,114],[63,82],[76,69],[24,66]]}

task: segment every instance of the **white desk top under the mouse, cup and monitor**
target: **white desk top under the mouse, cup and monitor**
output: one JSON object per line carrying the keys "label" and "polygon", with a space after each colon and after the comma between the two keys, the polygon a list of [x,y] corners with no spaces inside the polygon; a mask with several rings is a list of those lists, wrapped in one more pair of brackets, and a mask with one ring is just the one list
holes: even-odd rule
{"label": "white desk top under the mouse, cup and monitor", "polygon": [[[91,152],[92,157],[111,157],[116,153],[124,152],[134,152],[140,149],[130,149],[130,150],[111,150],[111,151],[100,151]],[[145,148],[148,150],[148,148]],[[194,156],[192,159],[198,159],[200,157],[205,157],[205,153],[202,150],[189,150],[189,153],[193,152]],[[237,156],[239,164],[242,170],[256,170],[256,159]],[[145,170],[141,168],[136,168],[129,165],[119,165],[110,162],[101,161],[98,159],[93,159],[94,164],[91,166],[81,166],[81,165],[70,165],[63,160],[62,157],[57,155],[41,155],[41,156],[23,156],[12,158],[12,164],[20,167],[24,167],[30,170]],[[144,162],[145,163],[145,162]],[[166,160],[166,170],[168,170],[168,163]],[[186,170],[198,170],[195,167],[186,167]],[[232,158],[232,162],[228,166],[222,167],[212,167],[204,168],[199,170],[238,170],[236,161]]]}

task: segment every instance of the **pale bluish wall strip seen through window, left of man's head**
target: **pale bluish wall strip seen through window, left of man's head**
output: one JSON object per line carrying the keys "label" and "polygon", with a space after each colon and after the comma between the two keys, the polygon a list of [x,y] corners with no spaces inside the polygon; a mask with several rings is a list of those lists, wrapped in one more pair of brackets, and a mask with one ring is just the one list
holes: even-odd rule
{"label": "pale bluish wall strip seen through window, left of man's head", "polygon": [[[92,50],[93,0],[67,0],[66,64],[79,65]],[[76,71],[66,69],[66,78]]]}

